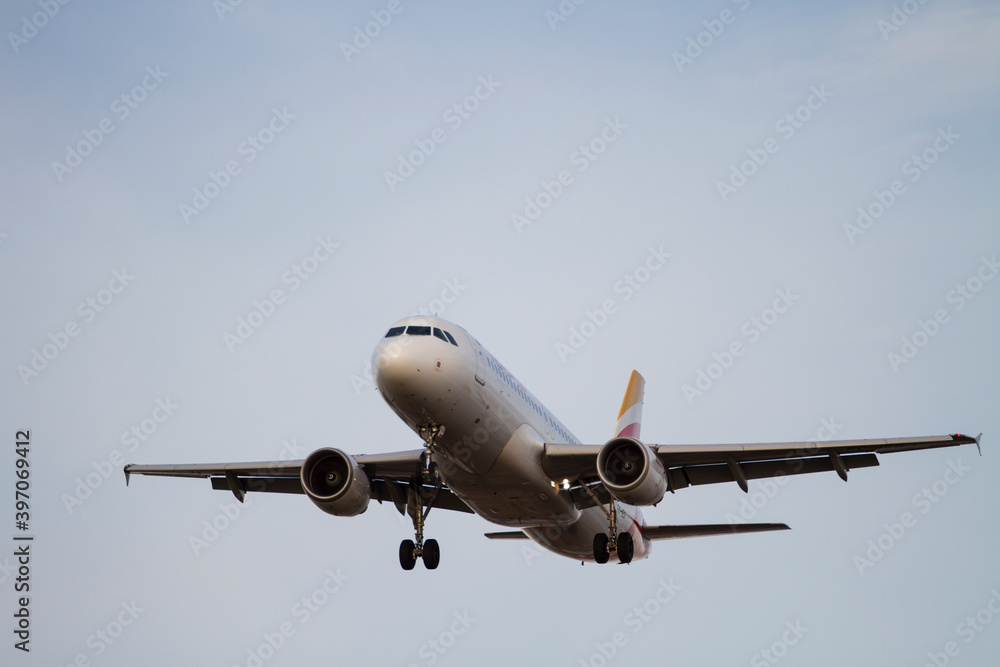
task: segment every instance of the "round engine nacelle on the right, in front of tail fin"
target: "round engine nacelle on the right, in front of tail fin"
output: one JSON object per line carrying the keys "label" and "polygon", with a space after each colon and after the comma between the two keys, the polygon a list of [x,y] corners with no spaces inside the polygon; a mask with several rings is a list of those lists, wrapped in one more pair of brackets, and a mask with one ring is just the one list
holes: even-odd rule
{"label": "round engine nacelle on the right, in front of tail fin", "polygon": [[655,505],[667,490],[663,463],[635,438],[612,438],[597,455],[597,474],[616,499],[630,505]]}

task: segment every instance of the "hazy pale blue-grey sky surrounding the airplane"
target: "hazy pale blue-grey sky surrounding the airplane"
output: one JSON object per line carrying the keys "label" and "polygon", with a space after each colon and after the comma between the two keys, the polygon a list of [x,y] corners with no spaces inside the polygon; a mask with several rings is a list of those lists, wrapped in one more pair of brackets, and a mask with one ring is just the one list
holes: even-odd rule
{"label": "hazy pale blue-grey sky surrounding the airplane", "polygon": [[[0,14],[0,537],[19,533],[19,429],[35,535],[30,655],[0,551],[0,662],[995,663],[996,3],[222,6]],[[529,202],[544,208],[519,227]],[[321,242],[339,245],[296,283]],[[670,258],[647,275],[651,247]],[[616,291],[626,275],[648,280]],[[227,345],[273,290],[283,303]],[[778,290],[793,300],[773,321]],[[443,293],[440,314],[584,442],[610,437],[636,368],[647,442],[983,431],[983,456],[684,489],[647,520],[793,530],[661,542],[629,567],[435,511],[440,568],[403,572],[411,527],[390,506],[345,519],[266,495],[236,515],[204,480],[125,487],[122,460],[419,446],[368,359]],[[33,374],[36,352],[52,358]],[[685,393],[699,372],[711,386]]]}

